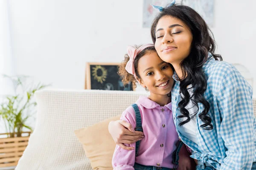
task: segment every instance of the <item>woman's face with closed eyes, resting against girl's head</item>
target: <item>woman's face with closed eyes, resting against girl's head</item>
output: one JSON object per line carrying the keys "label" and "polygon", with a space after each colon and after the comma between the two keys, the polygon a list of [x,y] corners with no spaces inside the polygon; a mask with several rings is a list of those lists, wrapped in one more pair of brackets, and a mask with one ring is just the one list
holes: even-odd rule
{"label": "woman's face with closed eyes, resting against girl's head", "polygon": [[156,27],[155,48],[159,57],[172,65],[179,65],[190,53],[192,33],[181,20],[163,16]]}

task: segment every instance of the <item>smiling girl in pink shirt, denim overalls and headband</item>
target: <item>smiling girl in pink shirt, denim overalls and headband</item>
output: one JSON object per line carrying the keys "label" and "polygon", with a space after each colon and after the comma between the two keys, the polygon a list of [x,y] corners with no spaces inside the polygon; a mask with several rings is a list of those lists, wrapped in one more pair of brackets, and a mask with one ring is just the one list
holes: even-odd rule
{"label": "smiling girl in pink shirt, denim overalls and headband", "polygon": [[[172,119],[170,93],[174,83],[173,68],[157,55],[153,44],[140,48],[128,47],[128,55],[119,67],[125,84],[136,81],[150,91],[150,96],[140,96],[136,104],[128,107],[121,120],[131,123],[145,138],[129,144],[132,150],[116,145],[112,165],[114,170],[173,170],[177,167],[179,142]],[[168,133],[167,133],[168,131]],[[189,157],[189,156],[187,156]]]}

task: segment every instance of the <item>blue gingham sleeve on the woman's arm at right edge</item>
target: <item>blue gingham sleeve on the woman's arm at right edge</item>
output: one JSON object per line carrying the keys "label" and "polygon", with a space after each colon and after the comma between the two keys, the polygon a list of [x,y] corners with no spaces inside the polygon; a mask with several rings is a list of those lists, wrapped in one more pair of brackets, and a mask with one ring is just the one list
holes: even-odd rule
{"label": "blue gingham sleeve on the woman's arm at right edge", "polygon": [[227,147],[220,170],[251,170],[255,151],[253,139],[252,88],[231,67],[217,95],[221,115],[220,134]]}

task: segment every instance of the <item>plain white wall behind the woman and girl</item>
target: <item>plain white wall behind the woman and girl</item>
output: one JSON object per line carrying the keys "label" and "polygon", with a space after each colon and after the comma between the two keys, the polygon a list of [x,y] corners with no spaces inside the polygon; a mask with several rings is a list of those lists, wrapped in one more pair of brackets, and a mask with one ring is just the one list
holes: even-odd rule
{"label": "plain white wall behind the woman and girl", "polygon": [[[254,74],[256,1],[215,0],[212,31],[227,62]],[[126,45],[151,42],[143,0],[10,0],[17,73],[53,88],[84,88],[85,62],[120,62]]]}

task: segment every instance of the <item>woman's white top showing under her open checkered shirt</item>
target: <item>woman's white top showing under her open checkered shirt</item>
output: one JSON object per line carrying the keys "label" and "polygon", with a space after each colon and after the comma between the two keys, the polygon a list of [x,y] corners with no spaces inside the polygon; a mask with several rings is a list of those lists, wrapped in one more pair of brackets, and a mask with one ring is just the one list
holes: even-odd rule
{"label": "woman's white top showing under her open checkered shirt", "polygon": [[[188,86],[188,91],[190,96],[192,96],[193,94],[193,89],[191,88],[192,85]],[[189,104],[186,105],[185,107],[188,111],[189,111],[189,115],[191,120],[182,125],[182,126],[178,126],[177,129],[179,130],[179,132],[183,135],[186,136],[186,138],[190,139],[191,141],[195,142],[196,144],[198,144],[197,142],[197,137],[196,137],[196,118],[197,115],[195,115],[194,113],[198,110],[198,108],[195,106],[195,104],[190,100]],[[178,115],[181,115],[181,113],[178,113]],[[192,117],[193,115],[195,115],[194,117]],[[180,120],[180,122],[186,120],[187,118],[179,118],[178,120]]]}

